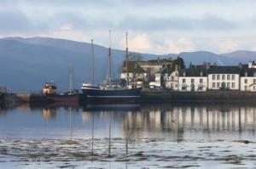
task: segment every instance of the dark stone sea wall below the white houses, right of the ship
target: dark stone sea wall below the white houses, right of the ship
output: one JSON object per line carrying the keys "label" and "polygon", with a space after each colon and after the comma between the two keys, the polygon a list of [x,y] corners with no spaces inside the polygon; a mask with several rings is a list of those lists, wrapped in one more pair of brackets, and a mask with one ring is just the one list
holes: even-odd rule
{"label": "dark stone sea wall below the white houses, right of the ship", "polygon": [[240,91],[143,91],[142,102],[256,103],[256,93]]}

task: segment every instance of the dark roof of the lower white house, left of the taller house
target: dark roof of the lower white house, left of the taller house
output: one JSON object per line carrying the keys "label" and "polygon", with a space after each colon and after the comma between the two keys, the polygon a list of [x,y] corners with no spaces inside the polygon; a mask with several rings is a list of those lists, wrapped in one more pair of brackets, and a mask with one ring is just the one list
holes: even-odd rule
{"label": "dark roof of the lower white house, left of the taller house", "polygon": [[185,73],[184,76],[207,76],[207,69],[206,68],[185,68],[180,70],[179,75],[183,76],[183,73]]}

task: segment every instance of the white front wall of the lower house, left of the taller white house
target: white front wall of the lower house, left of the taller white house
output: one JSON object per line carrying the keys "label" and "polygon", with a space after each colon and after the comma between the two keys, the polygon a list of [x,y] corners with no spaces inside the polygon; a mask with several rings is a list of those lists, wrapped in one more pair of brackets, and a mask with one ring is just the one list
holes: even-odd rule
{"label": "white front wall of the lower house, left of the taller white house", "polygon": [[[185,80],[185,82],[183,81]],[[178,90],[179,91],[191,91],[192,79],[194,79],[195,91],[206,91],[207,90],[207,76],[180,76],[178,78]],[[200,82],[202,80],[202,82]],[[186,89],[184,90],[184,87]],[[202,90],[199,90],[202,87]]]}

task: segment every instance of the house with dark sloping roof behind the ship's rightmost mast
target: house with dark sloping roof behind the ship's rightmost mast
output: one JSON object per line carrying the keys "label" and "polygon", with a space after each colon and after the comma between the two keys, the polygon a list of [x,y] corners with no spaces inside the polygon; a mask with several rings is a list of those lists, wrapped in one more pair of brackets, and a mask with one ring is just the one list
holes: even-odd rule
{"label": "house with dark sloping roof behind the ship's rightmost mast", "polygon": [[[138,61],[127,62],[129,81],[148,81],[147,71],[138,64]],[[124,62],[121,79],[127,79],[126,62]]]}

